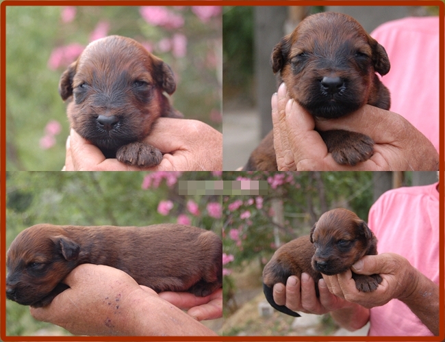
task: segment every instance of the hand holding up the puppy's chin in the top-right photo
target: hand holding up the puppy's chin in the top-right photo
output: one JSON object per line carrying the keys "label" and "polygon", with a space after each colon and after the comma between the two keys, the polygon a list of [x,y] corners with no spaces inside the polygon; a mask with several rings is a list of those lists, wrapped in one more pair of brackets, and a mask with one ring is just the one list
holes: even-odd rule
{"label": "hand holding up the puppy's chin in the top-right photo", "polygon": [[[285,84],[272,96],[274,147],[278,170],[437,170],[433,144],[402,116],[370,105],[331,120],[315,120],[296,101]],[[336,163],[314,131],[345,129],[374,140],[374,154],[356,166]]]}

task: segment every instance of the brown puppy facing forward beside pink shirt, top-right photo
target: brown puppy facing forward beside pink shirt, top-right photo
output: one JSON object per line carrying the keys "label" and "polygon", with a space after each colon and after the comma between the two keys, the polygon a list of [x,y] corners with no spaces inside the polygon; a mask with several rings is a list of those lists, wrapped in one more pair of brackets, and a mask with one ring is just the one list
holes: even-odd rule
{"label": "brown puppy facing forward beside pink shirt, top-right photo", "polygon": [[[390,70],[386,51],[346,14],[308,16],[275,46],[271,64],[289,96],[316,118],[340,118],[367,103],[390,109],[390,92],[375,74]],[[353,166],[372,155],[374,142],[367,135],[344,130],[318,133],[337,163]],[[277,170],[272,131],[244,170]]]}

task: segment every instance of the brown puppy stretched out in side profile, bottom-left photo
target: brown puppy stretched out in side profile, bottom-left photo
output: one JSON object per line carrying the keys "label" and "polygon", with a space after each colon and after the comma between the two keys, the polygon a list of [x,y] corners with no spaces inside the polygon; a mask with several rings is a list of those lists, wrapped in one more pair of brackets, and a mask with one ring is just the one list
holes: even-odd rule
{"label": "brown puppy stretched out in side profile, bottom-left photo", "polygon": [[37,224],[12,241],[6,297],[46,306],[68,288],[62,283],[82,263],[123,270],[160,291],[209,295],[223,285],[223,245],[211,231],[181,224],[146,227]]}

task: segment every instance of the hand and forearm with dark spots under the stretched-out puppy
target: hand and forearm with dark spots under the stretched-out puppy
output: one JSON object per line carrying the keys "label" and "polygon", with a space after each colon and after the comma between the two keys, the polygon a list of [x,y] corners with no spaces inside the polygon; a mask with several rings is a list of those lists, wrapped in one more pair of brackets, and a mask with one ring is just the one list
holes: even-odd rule
{"label": "hand and forearm with dark spots under the stretched-out puppy", "polygon": [[64,283],[70,288],[51,304],[30,309],[35,319],[91,336],[214,334],[119,269],[79,265]]}

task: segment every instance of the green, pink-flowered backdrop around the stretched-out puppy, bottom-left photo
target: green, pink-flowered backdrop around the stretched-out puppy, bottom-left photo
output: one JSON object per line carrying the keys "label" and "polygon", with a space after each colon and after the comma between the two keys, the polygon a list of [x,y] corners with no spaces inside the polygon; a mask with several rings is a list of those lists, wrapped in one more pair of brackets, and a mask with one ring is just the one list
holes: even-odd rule
{"label": "green, pink-flowered backdrop around the stretched-out puppy, bottom-left photo", "polygon": [[[34,224],[148,226],[180,223],[222,231],[222,196],[179,195],[179,181],[220,180],[220,172],[7,172],[6,245]],[[6,334],[65,335],[6,301]],[[222,319],[207,321],[214,330]]]}

